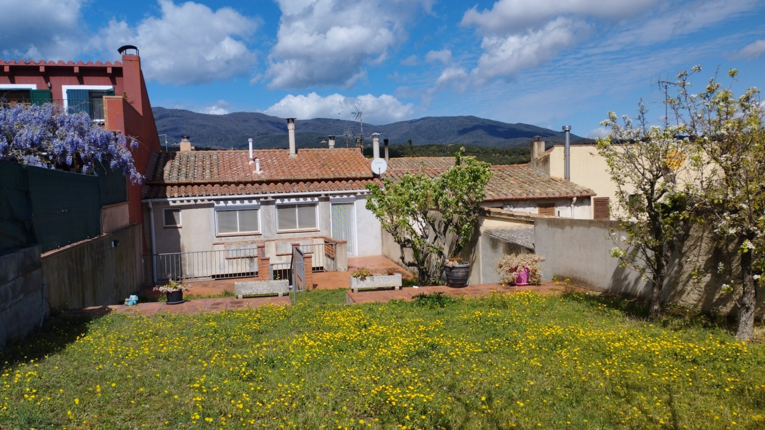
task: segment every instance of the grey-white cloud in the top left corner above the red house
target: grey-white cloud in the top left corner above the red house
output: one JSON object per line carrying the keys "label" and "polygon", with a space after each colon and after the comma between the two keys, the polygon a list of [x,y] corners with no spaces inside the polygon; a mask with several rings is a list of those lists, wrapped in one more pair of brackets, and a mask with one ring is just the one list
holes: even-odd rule
{"label": "grey-white cloud in the top left corner above the red house", "polygon": [[83,40],[85,0],[0,0],[0,55],[13,59],[72,60]]}

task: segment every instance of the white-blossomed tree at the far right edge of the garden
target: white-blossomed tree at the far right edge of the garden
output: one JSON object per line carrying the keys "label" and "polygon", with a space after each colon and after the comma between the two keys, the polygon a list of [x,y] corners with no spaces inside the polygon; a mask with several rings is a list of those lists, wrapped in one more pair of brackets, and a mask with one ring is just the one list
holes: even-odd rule
{"label": "white-blossomed tree at the far right edge of the garden", "polygon": [[[765,130],[759,90],[740,97],[712,77],[700,93],[692,93],[688,77],[678,76],[678,95],[669,100],[679,125],[704,154],[699,168],[707,172],[695,183],[695,207],[723,243],[733,243],[740,255],[739,273],[724,285],[738,293],[737,337],[754,334],[757,285],[765,269]],[[737,70],[730,70],[731,84]],[[734,288],[740,286],[741,288]]]}

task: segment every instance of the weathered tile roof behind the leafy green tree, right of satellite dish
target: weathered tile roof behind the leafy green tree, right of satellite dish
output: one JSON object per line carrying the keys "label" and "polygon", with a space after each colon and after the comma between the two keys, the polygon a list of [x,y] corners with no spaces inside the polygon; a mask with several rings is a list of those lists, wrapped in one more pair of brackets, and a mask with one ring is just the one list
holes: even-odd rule
{"label": "weathered tile roof behind the leafy green tree, right of satellite dish", "polygon": [[[398,181],[408,172],[418,172],[427,174],[434,178],[446,171],[446,168],[423,168],[425,166],[435,166],[439,163],[445,163],[451,160],[454,165],[454,158],[451,157],[425,157],[427,160],[420,166],[416,166],[416,158],[393,158],[389,166],[395,166],[399,169],[389,168],[382,178],[390,181]],[[404,160],[404,161],[394,161]],[[402,169],[403,166],[412,166],[410,169]],[[449,165],[449,166],[451,166]],[[491,166],[494,172],[493,177],[486,186],[486,195],[484,201],[492,200],[527,200],[527,199],[553,199],[570,197],[589,197],[595,193],[588,187],[574,184],[571,181],[565,181],[561,178],[550,178],[544,174],[533,171],[527,165],[494,165]]]}

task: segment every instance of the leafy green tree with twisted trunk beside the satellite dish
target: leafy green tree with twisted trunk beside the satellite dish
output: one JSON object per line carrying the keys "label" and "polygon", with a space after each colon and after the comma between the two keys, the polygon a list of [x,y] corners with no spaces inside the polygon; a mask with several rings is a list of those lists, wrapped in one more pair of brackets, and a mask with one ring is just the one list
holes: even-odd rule
{"label": "leafy green tree with twisted trunk beside the satellite dish", "polygon": [[[382,181],[383,187],[366,186],[366,209],[401,246],[402,262],[417,267],[423,285],[438,282],[446,259],[470,239],[491,174],[488,163],[463,157],[461,149],[454,166],[435,178],[407,173],[400,181]],[[412,260],[405,249],[412,250]]]}

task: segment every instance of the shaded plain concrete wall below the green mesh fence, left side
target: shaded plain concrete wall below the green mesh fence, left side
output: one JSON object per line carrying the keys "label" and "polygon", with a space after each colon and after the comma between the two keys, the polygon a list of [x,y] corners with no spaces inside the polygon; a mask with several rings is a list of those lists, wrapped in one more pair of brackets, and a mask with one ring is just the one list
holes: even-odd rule
{"label": "shaded plain concrete wall below the green mesh fence, left side", "polygon": [[[112,246],[113,241],[119,241]],[[48,252],[42,257],[53,308],[116,305],[142,286],[141,226]]]}

